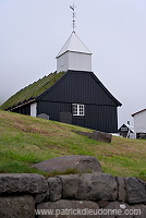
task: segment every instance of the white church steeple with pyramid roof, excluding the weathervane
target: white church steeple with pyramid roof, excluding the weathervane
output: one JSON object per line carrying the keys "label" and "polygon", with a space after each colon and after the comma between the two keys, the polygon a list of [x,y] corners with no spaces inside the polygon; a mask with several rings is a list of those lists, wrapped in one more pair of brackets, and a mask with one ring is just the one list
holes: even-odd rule
{"label": "white church steeple with pyramid roof, excluding the weathervane", "polygon": [[68,70],[92,71],[92,52],[75,32],[72,32],[57,56],[57,72],[66,72]]}

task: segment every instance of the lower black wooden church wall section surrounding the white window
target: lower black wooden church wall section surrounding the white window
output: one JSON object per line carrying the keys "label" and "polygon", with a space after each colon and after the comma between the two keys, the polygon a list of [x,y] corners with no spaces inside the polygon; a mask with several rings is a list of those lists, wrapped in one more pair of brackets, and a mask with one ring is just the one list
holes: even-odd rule
{"label": "lower black wooden church wall section surrounding the white window", "polygon": [[[38,114],[46,113],[50,120],[60,121],[60,112],[71,112],[72,104],[39,101]],[[72,124],[115,133],[118,131],[117,107],[85,105],[85,116],[72,116]]]}

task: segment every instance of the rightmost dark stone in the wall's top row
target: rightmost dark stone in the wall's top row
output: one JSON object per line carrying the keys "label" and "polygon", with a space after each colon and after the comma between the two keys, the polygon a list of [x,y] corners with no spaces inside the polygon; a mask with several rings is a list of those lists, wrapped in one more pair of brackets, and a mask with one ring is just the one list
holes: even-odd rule
{"label": "rightmost dark stone in the wall's top row", "polygon": [[146,203],[145,183],[136,178],[125,178],[127,204]]}

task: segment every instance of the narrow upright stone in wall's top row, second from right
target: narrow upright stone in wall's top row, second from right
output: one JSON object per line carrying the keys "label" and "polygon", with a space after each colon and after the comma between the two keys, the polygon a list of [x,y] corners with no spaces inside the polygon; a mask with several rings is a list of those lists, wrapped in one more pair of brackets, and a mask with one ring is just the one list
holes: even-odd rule
{"label": "narrow upright stone in wall's top row, second from right", "polygon": [[126,192],[125,192],[124,178],[118,177],[117,182],[118,182],[118,201],[119,202],[125,202]]}

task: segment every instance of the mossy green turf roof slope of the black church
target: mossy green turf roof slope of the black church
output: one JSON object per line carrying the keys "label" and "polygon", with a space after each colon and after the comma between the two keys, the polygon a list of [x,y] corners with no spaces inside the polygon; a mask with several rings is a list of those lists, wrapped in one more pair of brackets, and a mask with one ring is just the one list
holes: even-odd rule
{"label": "mossy green turf roof slope of the black church", "polygon": [[37,82],[26,86],[25,88],[22,88],[15,95],[11,96],[2,106],[0,106],[0,109],[11,109],[14,106],[35,99],[45,90],[50,88],[57,81],[59,81],[63,74],[64,72],[54,72],[50,73],[48,76],[39,78]]}

